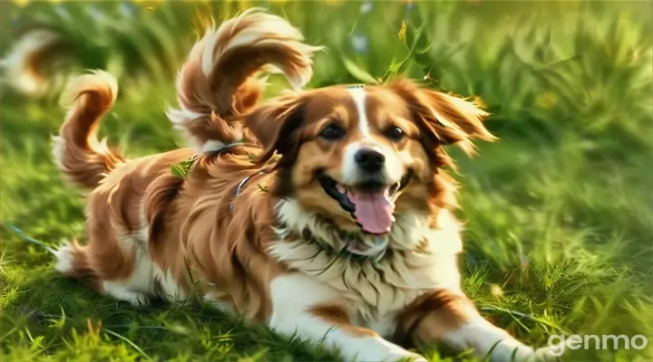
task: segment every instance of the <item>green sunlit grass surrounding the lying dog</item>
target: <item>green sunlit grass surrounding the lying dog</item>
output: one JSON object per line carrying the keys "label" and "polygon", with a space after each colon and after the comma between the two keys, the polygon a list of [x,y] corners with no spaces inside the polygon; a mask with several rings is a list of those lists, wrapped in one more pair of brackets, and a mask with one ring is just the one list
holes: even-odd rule
{"label": "green sunlit grass surrounding the lying dog", "polygon": [[[473,160],[452,150],[463,184],[464,290],[484,316],[535,346],[551,334],[644,335],[642,350],[570,350],[566,360],[653,360],[650,4],[436,1],[375,3],[366,13],[363,3],[269,3],[309,43],[329,48],[312,87],[403,72],[480,96],[492,111],[498,142],[479,145]],[[54,26],[69,45],[52,54],[62,62],[48,69],[44,97],[0,88],[0,359],[335,359],[199,302],[136,309],[99,296],[57,275],[43,248],[8,228],[47,245],[84,239],[83,198],[64,186],[49,152],[63,120],[57,77],[116,73],[121,98],[102,133],[131,157],[175,148],[163,112],[193,29],[251,5],[125,4],[0,12],[0,49],[15,40],[12,24]]]}

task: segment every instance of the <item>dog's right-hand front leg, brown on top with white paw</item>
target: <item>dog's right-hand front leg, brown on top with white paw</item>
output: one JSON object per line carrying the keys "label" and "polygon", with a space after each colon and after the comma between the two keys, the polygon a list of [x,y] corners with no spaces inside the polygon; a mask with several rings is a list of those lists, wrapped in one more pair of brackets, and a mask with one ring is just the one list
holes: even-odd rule
{"label": "dog's right-hand front leg, brown on top with white paw", "polygon": [[554,359],[548,348],[533,350],[483,319],[473,302],[460,291],[425,293],[400,314],[399,327],[398,332],[414,343],[443,342],[459,351],[472,348],[477,357],[489,354],[491,361]]}

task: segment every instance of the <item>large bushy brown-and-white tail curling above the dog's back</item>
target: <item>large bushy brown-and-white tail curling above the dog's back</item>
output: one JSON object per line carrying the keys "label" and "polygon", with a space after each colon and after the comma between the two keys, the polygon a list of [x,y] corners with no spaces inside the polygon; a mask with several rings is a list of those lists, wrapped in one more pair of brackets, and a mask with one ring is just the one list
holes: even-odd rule
{"label": "large bushy brown-and-white tail curling above the dog's back", "polygon": [[168,117],[199,151],[241,140],[256,142],[234,117],[257,103],[265,81],[256,75],[270,65],[295,88],[310,80],[313,53],[322,48],[302,41],[302,34],[285,19],[256,8],[225,21],[217,30],[209,29],[181,68],[180,108],[168,110]]}

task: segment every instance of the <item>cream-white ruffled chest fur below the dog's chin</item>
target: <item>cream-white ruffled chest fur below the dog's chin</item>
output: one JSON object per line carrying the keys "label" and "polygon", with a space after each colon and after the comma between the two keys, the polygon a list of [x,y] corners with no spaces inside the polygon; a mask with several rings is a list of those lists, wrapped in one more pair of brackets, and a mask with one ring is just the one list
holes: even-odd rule
{"label": "cream-white ruffled chest fur below the dog's chin", "polygon": [[389,233],[390,245],[379,260],[352,260],[311,243],[299,230],[329,237],[332,233],[317,216],[301,212],[293,201],[278,205],[284,224],[279,241],[268,252],[289,270],[299,271],[336,291],[356,320],[356,325],[387,336],[395,328],[395,315],[423,294],[440,288],[460,290],[457,255],[462,250],[458,224],[448,212],[433,229],[417,214],[398,214]]}

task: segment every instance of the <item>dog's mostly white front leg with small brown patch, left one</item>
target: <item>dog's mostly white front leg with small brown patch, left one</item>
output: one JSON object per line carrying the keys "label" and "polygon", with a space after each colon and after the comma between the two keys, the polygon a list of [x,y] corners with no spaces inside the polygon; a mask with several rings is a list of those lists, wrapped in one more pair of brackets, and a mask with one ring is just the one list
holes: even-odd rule
{"label": "dog's mostly white front leg with small brown patch, left one", "polygon": [[350,323],[346,300],[327,285],[303,274],[287,274],[270,283],[269,326],[279,333],[339,350],[346,361],[398,361],[424,357]]}

